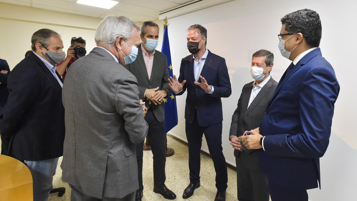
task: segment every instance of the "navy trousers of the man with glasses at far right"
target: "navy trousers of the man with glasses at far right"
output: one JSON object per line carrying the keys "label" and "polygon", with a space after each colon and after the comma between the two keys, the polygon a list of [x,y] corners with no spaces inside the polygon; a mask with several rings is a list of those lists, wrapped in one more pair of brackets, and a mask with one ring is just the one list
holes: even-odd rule
{"label": "navy trousers of the man with glasses at far right", "polygon": [[291,190],[268,180],[272,201],[308,201],[306,190]]}

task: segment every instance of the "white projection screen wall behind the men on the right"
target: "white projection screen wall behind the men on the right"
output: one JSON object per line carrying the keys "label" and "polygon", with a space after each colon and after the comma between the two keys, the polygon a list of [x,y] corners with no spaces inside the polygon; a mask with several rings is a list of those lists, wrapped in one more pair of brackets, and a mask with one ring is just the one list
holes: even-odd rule
{"label": "white projection screen wall behind the men on the right", "polygon": [[[235,0],[210,8],[169,19],[169,38],[172,65],[178,76],[180,60],[189,53],[186,46],[186,29],[192,24],[207,28],[207,48],[226,59],[231,76],[232,95],[223,98],[223,153],[227,163],[235,165],[233,148],[228,136],[231,116],[237,106],[244,84],[251,82],[249,73],[251,55],[259,49],[274,53],[272,77],[280,80],[291,61],[283,58],[278,50],[280,19],[287,13],[299,9],[312,9],[320,14],[322,21],[321,51],[335,68],[341,90],[335,105],[330,146],[321,158],[322,190],[310,190],[312,201],[352,200],[357,179],[357,135],[353,125],[357,113],[356,89],[353,81],[357,75],[354,67],[354,33],[357,14],[356,1],[348,0],[300,0],[264,1]],[[186,141],[185,108],[186,94],[177,96],[178,125],[171,134]],[[206,143],[202,150],[208,152]]]}

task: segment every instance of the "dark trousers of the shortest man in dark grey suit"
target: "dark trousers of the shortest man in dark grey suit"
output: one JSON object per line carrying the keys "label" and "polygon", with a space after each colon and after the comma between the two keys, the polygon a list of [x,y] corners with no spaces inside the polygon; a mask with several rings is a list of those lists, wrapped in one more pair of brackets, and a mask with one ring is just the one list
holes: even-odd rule
{"label": "dark trousers of the shortest man in dark grey suit", "polygon": [[[239,153],[243,154],[243,153]],[[262,171],[247,168],[236,157],[237,167],[237,198],[239,201],[269,201],[268,180]]]}

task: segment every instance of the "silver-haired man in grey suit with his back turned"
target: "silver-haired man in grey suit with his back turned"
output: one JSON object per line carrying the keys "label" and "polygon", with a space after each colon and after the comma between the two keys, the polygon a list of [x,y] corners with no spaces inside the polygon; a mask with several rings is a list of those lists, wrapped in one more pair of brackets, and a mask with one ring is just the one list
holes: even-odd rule
{"label": "silver-haired man in grey suit with his back turned", "polygon": [[147,134],[134,61],[139,27],[123,16],[99,24],[97,47],[71,65],[62,90],[66,136],[62,180],[71,200],[134,200],[139,188],[135,143]]}

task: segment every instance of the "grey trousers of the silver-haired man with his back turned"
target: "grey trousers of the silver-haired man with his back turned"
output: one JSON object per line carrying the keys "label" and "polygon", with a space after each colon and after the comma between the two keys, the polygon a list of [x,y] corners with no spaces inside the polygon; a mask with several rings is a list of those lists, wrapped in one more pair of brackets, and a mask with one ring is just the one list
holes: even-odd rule
{"label": "grey trousers of the silver-haired man with his back turned", "polygon": [[114,198],[114,197],[102,197],[101,199],[86,195],[81,187],[73,186],[69,184],[71,187],[71,201],[134,201],[135,200],[135,191],[126,195],[123,198]]}

